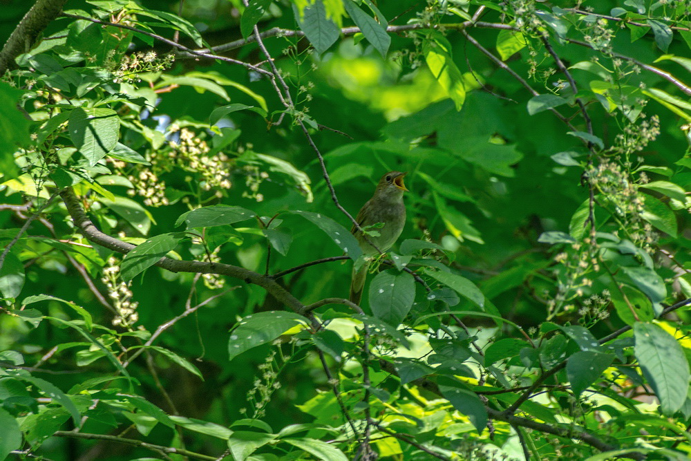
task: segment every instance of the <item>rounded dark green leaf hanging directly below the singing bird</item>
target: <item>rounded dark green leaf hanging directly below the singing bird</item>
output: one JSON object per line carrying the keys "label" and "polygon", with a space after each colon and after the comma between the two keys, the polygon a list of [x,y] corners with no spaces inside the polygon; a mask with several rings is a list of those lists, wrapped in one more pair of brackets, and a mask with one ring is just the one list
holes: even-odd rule
{"label": "rounded dark green leaf hanging directly below the singing bird", "polygon": [[392,326],[406,318],[415,301],[415,279],[408,272],[385,270],[370,283],[370,309]]}

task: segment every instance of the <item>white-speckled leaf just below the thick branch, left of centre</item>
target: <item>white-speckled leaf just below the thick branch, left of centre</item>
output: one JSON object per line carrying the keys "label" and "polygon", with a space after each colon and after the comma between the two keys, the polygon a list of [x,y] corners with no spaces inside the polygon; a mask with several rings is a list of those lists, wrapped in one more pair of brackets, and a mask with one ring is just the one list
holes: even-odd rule
{"label": "white-speckled leaf just below the thick branch, left of centre", "polygon": [[267,344],[300,323],[307,324],[305,317],[294,312],[259,312],[244,317],[230,333],[229,360],[256,346]]}

